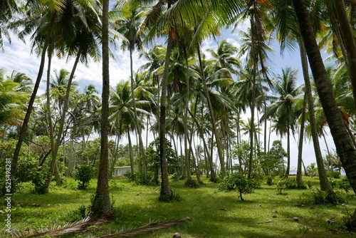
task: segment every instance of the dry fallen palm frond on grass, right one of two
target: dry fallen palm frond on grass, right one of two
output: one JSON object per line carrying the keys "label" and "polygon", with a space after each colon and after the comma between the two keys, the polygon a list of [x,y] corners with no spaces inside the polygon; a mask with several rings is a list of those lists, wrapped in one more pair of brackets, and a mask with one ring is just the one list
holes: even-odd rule
{"label": "dry fallen palm frond on grass, right one of two", "polygon": [[178,224],[182,224],[185,221],[191,221],[192,219],[190,219],[190,217],[186,217],[184,219],[179,219],[179,220],[175,220],[175,221],[169,221],[169,222],[150,222],[149,224],[146,224],[143,227],[140,227],[138,229],[132,229],[130,231],[125,231],[125,232],[119,232],[116,234],[108,234],[106,236],[103,237],[136,237],[138,235],[141,234],[146,234],[147,232],[153,232],[156,231],[158,229],[164,229],[167,227],[173,227],[176,226]]}

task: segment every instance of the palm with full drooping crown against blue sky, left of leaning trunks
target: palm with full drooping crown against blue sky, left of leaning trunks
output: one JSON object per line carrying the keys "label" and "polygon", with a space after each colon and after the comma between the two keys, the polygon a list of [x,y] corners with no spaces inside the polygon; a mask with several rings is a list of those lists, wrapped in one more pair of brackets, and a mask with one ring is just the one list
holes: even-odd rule
{"label": "palm with full drooping crown against blue sky, left of leaning trunks", "polygon": [[294,133],[295,122],[298,112],[295,111],[295,98],[298,96],[299,88],[296,88],[298,71],[292,68],[283,68],[282,74],[276,76],[276,82],[273,84],[273,90],[279,96],[276,102],[268,105],[266,114],[263,118],[275,116],[281,135],[287,134],[287,169],[286,176],[290,170],[290,130]]}

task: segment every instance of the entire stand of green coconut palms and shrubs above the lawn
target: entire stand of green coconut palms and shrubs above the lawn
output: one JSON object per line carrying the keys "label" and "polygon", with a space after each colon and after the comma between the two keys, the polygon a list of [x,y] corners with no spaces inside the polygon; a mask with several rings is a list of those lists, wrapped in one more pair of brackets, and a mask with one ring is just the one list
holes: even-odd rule
{"label": "entire stand of green coconut palms and shrubs above the lawn", "polygon": [[[47,194],[69,177],[85,190],[95,175],[88,215],[109,219],[118,215],[109,179],[119,166],[130,166],[136,184],[159,185],[157,202],[181,200],[170,177],[192,188],[220,183],[245,200],[261,181],[280,176],[283,194],[308,187],[302,150],[311,138],[315,163],[304,165],[304,175],[318,175],[315,202],[341,204],[341,172],[341,187],[356,192],[355,7],[347,0],[3,1],[3,51],[11,38],[31,41],[40,65],[33,82],[26,68],[0,69],[1,194],[28,182]],[[239,46],[222,39],[204,48],[236,29]],[[299,51],[302,78],[290,66],[271,72],[271,42],[282,53]],[[333,66],[325,67],[320,48]],[[110,62],[126,50],[130,72],[114,85]],[[137,55],[144,63],[135,71]],[[73,66],[56,68],[54,58],[73,59]],[[101,89],[76,78],[78,65],[90,61],[102,63]],[[327,144],[323,155],[326,128],[335,151]],[[297,136],[294,180],[290,143]],[[355,229],[356,212],[345,226]]]}

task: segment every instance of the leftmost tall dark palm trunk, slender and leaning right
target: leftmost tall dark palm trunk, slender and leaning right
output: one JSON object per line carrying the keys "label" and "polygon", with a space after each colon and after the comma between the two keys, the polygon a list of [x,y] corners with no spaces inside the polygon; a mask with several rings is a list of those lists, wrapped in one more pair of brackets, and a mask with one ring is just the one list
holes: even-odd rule
{"label": "leftmost tall dark palm trunk, slender and leaning right", "polygon": [[28,126],[28,120],[30,120],[30,115],[32,112],[32,108],[33,108],[33,103],[35,102],[36,99],[36,94],[38,91],[38,88],[40,86],[41,83],[41,78],[43,75],[43,68],[44,68],[44,64],[45,64],[45,60],[46,60],[46,51],[48,48],[48,44],[50,42],[50,38],[51,38],[51,32],[53,29],[53,25],[54,25],[54,21],[56,18],[56,14],[53,14],[51,22],[49,24],[49,29],[48,29],[48,34],[46,36],[46,40],[43,44],[43,48],[42,48],[42,53],[41,53],[41,63],[40,63],[40,68],[38,69],[38,74],[37,74],[37,78],[36,78],[36,83],[33,86],[33,91],[31,94],[31,98],[28,102],[28,106],[27,106],[27,110],[26,110],[26,115],[25,118],[23,119],[23,123],[21,126],[21,130],[20,130],[20,135],[19,135],[19,140],[17,141],[16,144],[16,148],[14,151],[14,157],[12,158],[11,161],[11,192],[15,192],[14,188],[14,182],[15,182],[15,178],[16,178],[16,173],[17,173],[17,165],[19,162],[19,155],[20,155],[20,150],[21,150],[21,146],[23,143],[23,140],[25,139],[25,135],[26,135],[26,130],[27,130],[27,126]]}

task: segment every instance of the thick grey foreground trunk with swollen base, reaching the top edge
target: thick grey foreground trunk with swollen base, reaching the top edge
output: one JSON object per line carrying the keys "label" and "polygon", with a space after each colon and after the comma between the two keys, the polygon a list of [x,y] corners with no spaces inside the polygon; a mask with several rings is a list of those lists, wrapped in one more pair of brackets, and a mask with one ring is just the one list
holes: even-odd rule
{"label": "thick grey foreground trunk with swollen base, reaching the top edge", "polygon": [[112,212],[109,195],[109,147],[108,147],[108,128],[109,128],[109,93],[110,93],[110,74],[109,74],[109,1],[103,0],[103,93],[101,111],[101,140],[100,140],[100,164],[98,171],[98,185],[91,207],[91,212],[95,217],[103,217]]}

